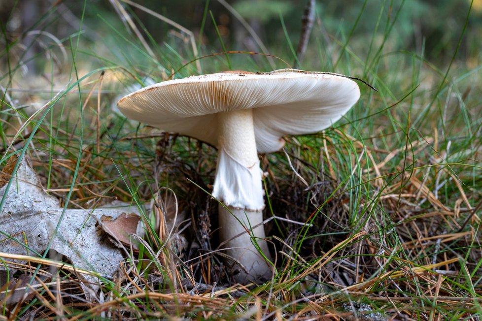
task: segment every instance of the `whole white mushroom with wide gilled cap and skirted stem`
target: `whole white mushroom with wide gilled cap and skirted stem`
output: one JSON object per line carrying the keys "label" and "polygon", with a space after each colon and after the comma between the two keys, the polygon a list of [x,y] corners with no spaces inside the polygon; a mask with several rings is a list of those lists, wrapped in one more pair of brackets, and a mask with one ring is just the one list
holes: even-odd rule
{"label": "whole white mushroom with wide gilled cap and skirted stem", "polygon": [[128,118],[218,148],[212,196],[219,201],[220,240],[239,263],[233,275],[243,283],[271,276],[258,153],[281,149],[285,135],[331,126],[359,96],[346,76],[281,69],[169,80],[123,97],[118,106]]}

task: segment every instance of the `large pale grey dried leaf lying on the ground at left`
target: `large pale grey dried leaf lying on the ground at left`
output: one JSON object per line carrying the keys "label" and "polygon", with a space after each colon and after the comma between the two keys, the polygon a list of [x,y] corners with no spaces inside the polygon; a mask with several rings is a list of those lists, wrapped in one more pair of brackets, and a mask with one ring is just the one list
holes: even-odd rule
{"label": "large pale grey dried leaf lying on the ground at left", "polygon": [[[0,257],[42,257],[50,244],[50,249],[66,257],[77,272],[92,271],[83,273],[81,286],[87,293],[96,291],[98,282],[102,278],[111,279],[124,257],[121,248],[109,239],[129,244],[128,235],[140,230],[138,209],[114,204],[89,210],[64,210],[56,197],[40,187],[40,180],[28,160],[21,160],[12,177],[17,160],[16,156],[11,157],[0,176],[0,199],[4,198],[0,209]],[[8,186],[10,177],[13,181]],[[127,214],[126,210],[137,213]],[[103,230],[111,238],[106,237]],[[24,260],[12,258],[0,266],[2,290],[7,284],[15,285],[11,276]],[[16,296],[13,301],[21,297]],[[8,302],[15,303],[11,301],[10,298]]]}

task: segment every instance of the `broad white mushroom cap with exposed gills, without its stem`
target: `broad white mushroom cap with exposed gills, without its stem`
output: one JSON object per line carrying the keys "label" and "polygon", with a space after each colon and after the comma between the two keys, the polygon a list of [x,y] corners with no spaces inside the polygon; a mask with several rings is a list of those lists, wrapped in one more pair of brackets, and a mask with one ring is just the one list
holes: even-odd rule
{"label": "broad white mushroom cap with exposed gills, without its stem", "polygon": [[253,109],[258,153],[284,145],[283,135],[331,126],[358,100],[358,85],[342,76],[301,70],[214,73],[154,84],[118,102],[128,118],[218,146],[221,111]]}

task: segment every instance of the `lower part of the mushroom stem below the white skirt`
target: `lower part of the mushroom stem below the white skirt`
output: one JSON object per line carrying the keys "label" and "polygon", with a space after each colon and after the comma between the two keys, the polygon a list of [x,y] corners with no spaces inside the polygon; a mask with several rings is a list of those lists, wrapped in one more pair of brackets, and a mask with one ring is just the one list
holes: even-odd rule
{"label": "lower part of the mushroom stem below the white skirt", "polygon": [[[249,230],[249,233],[236,218]],[[249,281],[263,282],[272,276],[268,263],[254,245],[256,242],[261,252],[271,259],[267,241],[264,240],[264,226],[261,224],[251,230],[251,226],[262,222],[262,212],[249,212],[232,207],[226,209],[219,205],[219,226],[221,226],[219,236],[221,240],[227,241],[222,248],[226,248],[224,252],[237,261],[230,260],[228,265],[233,266],[230,272],[236,282],[241,284]],[[237,236],[238,234],[241,235]]]}

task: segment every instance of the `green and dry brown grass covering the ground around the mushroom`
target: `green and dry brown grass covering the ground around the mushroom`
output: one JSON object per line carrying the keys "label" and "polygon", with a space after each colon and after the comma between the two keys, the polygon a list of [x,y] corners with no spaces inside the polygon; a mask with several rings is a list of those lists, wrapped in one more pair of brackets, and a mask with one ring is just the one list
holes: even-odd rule
{"label": "green and dry brown grass covering the ground around the mushroom", "polygon": [[[399,19],[410,12],[410,1],[392,2],[379,1],[374,15],[367,15],[364,10],[370,7],[362,2],[352,21],[332,29],[315,25],[302,67],[356,76],[378,92],[359,83],[360,101],[333,128],[287,137],[285,153],[261,156],[269,173],[265,216],[290,221],[273,219],[266,225],[277,254],[276,274],[263,285],[248,287],[233,285],[215,251],[217,209],[203,190],[210,191],[216,151],[128,121],[111,105],[128,86],[145,85],[146,77],[161,81],[173,71],[180,78],[228,65],[268,71],[269,61],[240,53],[187,64],[196,58],[189,37],[163,24],[170,32],[164,41],[157,40],[132,6],[125,6],[120,16],[132,14],[138,34],[128,24],[123,27],[118,16],[92,14],[95,8],[83,2],[75,11],[77,29],[53,34],[64,46],[66,62],[62,48],[45,33],[49,23],[60,24],[66,11],[53,7],[39,17],[33,29],[45,32],[26,38],[27,45],[3,24],[1,166],[14,154],[28,157],[43,186],[66,209],[95,208],[114,199],[132,202],[150,226],[139,252],[125,253],[119,273],[105,276],[94,294],[81,287],[80,271],[59,268],[58,261],[69,263],[65,257],[46,260],[45,252],[43,258],[23,259],[31,296],[13,304],[3,298],[3,315],[73,320],[480,318],[481,64],[480,55],[470,56],[467,60],[477,63],[467,67],[461,54],[462,49],[473,52],[464,48],[463,39],[470,35],[467,24],[475,13],[467,7],[454,31],[456,41],[437,61],[425,57],[423,45],[407,49],[397,41],[403,27]],[[198,55],[230,50],[219,29],[207,26],[217,20],[209,3],[203,9],[202,29],[215,40],[208,46],[198,41]],[[269,49],[293,61],[288,44],[296,41],[290,40],[287,23],[287,17],[279,20],[277,34],[284,39]],[[367,24],[372,29],[356,36],[358,26]],[[98,38],[92,41],[93,36]],[[221,44],[214,42],[219,40]],[[29,44],[44,45],[30,58],[40,70],[29,76],[32,80],[22,74]],[[286,67],[278,60],[275,64]],[[165,216],[157,219],[169,223],[168,195],[173,194],[179,223],[172,233],[169,228],[157,231],[161,212],[150,213],[144,203],[164,199]],[[16,262],[2,259],[8,266]]]}

